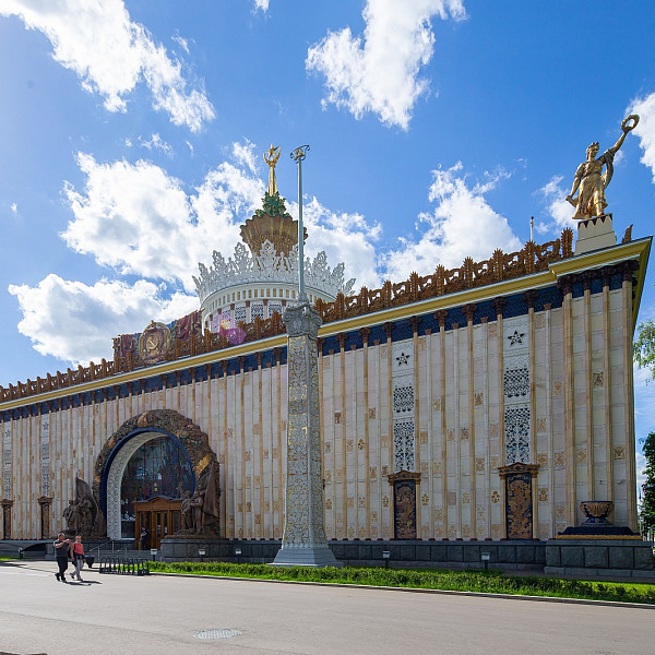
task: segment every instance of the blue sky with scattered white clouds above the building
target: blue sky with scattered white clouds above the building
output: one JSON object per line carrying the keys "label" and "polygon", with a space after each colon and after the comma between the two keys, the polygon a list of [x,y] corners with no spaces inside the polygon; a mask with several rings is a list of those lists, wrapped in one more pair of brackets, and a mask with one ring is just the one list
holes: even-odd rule
{"label": "blue sky with scattered white clouds above the building", "polygon": [[586,146],[629,114],[608,211],[619,239],[652,235],[654,28],[650,0],[0,0],[0,384],[196,309],[198,262],[233,253],[271,144],[294,215],[287,154],[310,145],[306,252],[355,288],[520,250],[531,216],[537,242],[574,227]]}

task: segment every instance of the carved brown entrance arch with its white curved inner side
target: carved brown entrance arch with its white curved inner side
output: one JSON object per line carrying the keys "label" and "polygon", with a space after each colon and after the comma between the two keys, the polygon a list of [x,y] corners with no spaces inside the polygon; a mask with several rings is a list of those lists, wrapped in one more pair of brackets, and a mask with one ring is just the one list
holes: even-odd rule
{"label": "carved brown entrance arch with its white curved inner side", "polygon": [[189,418],[172,409],[153,409],[128,419],[107,440],[96,460],[93,491],[107,517],[107,536],[121,536],[120,486],[130,457],[152,439],[171,437],[187,452],[195,478],[216,461],[210,439]]}

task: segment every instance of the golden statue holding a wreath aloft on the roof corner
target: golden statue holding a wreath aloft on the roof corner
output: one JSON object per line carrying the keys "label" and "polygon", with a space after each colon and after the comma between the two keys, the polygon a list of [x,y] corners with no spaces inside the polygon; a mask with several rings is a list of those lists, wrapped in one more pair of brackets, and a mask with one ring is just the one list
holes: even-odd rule
{"label": "golden statue holding a wreath aloft on the roof corner", "polygon": [[[621,145],[623,145],[628,132],[634,130],[638,123],[639,116],[634,114],[624,118],[621,122],[621,135],[598,158],[596,158],[599,150],[598,142],[592,143],[587,147],[586,160],[577,167],[571,193],[567,195],[567,201],[575,207],[573,218],[586,221],[593,216],[603,216],[605,214],[605,207],[607,207],[605,189],[614,175],[614,157]],[[605,172],[603,171],[603,166],[605,166]],[[576,191],[577,196],[573,198]]]}

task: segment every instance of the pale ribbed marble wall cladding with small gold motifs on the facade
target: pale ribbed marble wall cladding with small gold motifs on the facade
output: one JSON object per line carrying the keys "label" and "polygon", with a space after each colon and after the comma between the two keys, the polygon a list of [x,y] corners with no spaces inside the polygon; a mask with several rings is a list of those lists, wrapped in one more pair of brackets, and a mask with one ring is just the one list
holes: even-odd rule
{"label": "pale ribbed marble wall cladding with small gold motifs on the facade", "polygon": [[[587,500],[590,488],[596,496],[611,497],[615,521],[626,523],[633,484],[627,466],[633,436],[626,429],[624,395],[631,362],[623,353],[622,291],[610,291],[607,302],[608,320],[603,295],[594,294],[586,323],[584,298],[571,302],[572,390],[565,380],[561,307],[535,311],[532,327],[527,314],[505,318],[502,330],[492,320],[469,331],[462,318],[444,333],[419,329],[416,340],[389,344],[381,338],[367,348],[352,349],[355,337],[348,335],[343,349],[321,354],[327,537],[391,537],[388,476],[408,469],[421,474],[419,536],[499,538],[504,516],[498,466],[513,462],[539,465],[540,538],[562,529],[571,489],[575,502]],[[195,381],[187,376],[179,384],[169,376],[166,390],[145,391],[135,382],[132,397],[123,389],[115,400],[109,390],[105,400],[98,395],[83,405],[75,401],[74,407],[66,401],[61,409],[52,403],[50,413],[14,413],[2,424],[0,441],[2,498],[14,500],[13,536],[34,536],[41,496],[52,497],[51,527],[59,529],[75,475],[92,483],[106,440],[142,410],[166,407],[209,434],[222,464],[224,534],[281,538],[287,370],[275,360],[248,369],[233,372],[230,365],[224,376],[214,368],[211,379],[202,371]],[[569,393],[575,407],[574,443],[565,439]],[[568,449],[572,468],[567,468]]]}

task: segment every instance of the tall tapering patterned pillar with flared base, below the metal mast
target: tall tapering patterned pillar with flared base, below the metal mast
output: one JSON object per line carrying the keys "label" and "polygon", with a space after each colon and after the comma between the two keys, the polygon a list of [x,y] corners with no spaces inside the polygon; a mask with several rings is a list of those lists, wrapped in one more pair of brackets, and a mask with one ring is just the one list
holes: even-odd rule
{"label": "tall tapering patterned pillar with flared base, below the metal mast", "polygon": [[288,422],[285,524],[273,565],[341,567],[327,547],[317,338],[321,318],[303,302],[284,312],[288,334]]}

